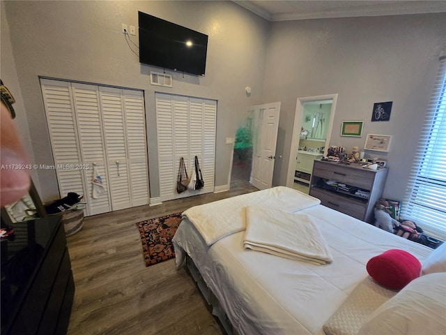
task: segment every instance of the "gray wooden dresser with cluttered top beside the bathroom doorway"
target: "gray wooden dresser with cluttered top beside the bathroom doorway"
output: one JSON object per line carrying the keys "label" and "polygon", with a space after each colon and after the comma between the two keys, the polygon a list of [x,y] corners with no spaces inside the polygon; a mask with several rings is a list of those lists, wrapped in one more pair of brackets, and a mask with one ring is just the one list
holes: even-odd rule
{"label": "gray wooden dresser with cluttered top beside the bathroom doorway", "polygon": [[373,223],[374,206],[383,193],[387,170],[370,170],[357,163],[314,161],[309,195],[326,207]]}

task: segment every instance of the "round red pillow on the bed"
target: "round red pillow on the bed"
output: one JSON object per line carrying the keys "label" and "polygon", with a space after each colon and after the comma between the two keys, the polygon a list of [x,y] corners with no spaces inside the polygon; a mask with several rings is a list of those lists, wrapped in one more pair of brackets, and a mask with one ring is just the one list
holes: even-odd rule
{"label": "round red pillow on the bed", "polygon": [[414,255],[398,249],[387,250],[367,262],[367,272],[371,278],[393,290],[401,290],[419,277],[420,271],[420,261]]}

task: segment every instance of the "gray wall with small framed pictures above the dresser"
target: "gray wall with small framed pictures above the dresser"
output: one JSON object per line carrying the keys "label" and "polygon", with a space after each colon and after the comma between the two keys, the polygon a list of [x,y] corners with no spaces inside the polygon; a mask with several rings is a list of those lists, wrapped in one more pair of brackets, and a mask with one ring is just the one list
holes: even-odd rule
{"label": "gray wall with small framed pictures above the dresser", "polygon": [[[383,195],[402,200],[445,36],[446,13],[273,22],[263,89],[282,101],[273,184],[286,184],[296,99],[339,94],[330,144],[351,150],[367,133],[393,135],[388,154],[366,156],[387,158]],[[371,122],[383,101],[393,101],[390,121]],[[351,120],[364,121],[362,137],[341,137]]]}

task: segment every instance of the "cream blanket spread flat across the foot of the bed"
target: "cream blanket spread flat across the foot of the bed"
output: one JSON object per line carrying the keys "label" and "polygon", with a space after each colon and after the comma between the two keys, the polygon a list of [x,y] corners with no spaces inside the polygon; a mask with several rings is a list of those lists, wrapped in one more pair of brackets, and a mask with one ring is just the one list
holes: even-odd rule
{"label": "cream blanket spread flat across the foot of the bed", "polygon": [[293,188],[277,186],[201,204],[183,211],[183,217],[194,224],[210,246],[223,237],[246,229],[246,206],[256,205],[295,212],[320,203],[321,200]]}

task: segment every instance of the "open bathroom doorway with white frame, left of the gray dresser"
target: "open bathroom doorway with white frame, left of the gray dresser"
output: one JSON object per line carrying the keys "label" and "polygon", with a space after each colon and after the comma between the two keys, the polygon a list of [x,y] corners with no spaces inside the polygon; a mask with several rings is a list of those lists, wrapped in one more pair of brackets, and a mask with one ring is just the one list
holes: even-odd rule
{"label": "open bathroom doorway with white frame, left of the gray dresser", "polygon": [[296,181],[296,188],[302,191],[303,186],[305,189],[312,172],[312,164],[309,164],[309,161],[327,155],[336,103],[337,94],[298,98],[286,186],[293,187]]}

